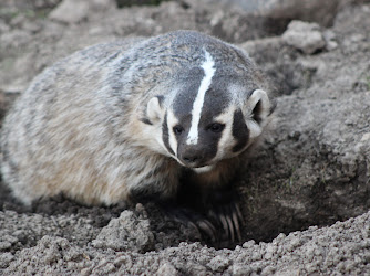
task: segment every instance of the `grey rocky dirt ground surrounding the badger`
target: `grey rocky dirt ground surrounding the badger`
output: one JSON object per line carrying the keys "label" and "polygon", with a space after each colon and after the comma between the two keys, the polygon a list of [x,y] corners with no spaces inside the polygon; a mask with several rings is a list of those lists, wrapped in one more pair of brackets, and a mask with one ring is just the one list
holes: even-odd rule
{"label": "grey rocky dirt ground surrounding the badger", "polygon": [[58,197],[27,209],[0,183],[0,274],[369,274],[369,1],[24,2],[0,3],[1,117],[58,59],[177,29],[247,50],[278,106],[235,183],[246,221],[238,244],[206,244],[153,204]]}

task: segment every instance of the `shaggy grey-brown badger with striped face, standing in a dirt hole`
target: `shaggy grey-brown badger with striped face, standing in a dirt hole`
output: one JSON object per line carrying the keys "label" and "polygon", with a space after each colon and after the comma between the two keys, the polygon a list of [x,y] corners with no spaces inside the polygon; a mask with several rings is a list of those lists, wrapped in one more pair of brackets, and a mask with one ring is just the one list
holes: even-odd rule
{"label": "shaggy grey-brown badger with striped face, standing in a dirt hole", "polygon": [[[246,52],[195,31],[88,47],[44,70],[9,112],[2,179],[24,204],[59,193],[89,205],[184,194],[232,204],[274,110],[265,86]],[[237,224],[237,208],[224,210],[224,225]]]}

